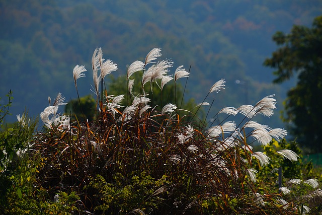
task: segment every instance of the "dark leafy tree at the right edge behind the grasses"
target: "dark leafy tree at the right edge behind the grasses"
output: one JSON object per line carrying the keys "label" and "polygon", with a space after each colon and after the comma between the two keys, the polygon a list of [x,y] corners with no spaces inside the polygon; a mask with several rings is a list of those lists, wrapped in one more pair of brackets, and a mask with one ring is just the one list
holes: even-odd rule
{"label": "dark leafy tree at the right edge behind the grasses", "polygon": [[280,47],[264,65],[277,69],[274,83],[295,75],[298,79],[287,93],[282,117],[308,152],[322,152],[322,16],[314,19],[311,28],[295,25],[289,34],[276,32],[273,40]]}

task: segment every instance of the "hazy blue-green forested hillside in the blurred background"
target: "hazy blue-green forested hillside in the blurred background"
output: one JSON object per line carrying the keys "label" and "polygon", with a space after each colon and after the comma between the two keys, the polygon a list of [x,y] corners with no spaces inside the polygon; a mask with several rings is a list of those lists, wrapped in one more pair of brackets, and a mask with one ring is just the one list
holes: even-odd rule
{"label": "hazy blue-green forested hillside in the blurred background", "polygon": [[191,65],[187,99],[202,102],[223,78],[226,89],[210,98],[215,99],[214,113],[276,94],[278,109],[264,124],[285,127],[278,112],[296,80],[273,85],[273,69],[263,62],[277,48],[272,41],[276,31],[311,26],[321,14],[319,0],[1,0],[0,97],[13,91],[13,115],[7,120],[16,121],[25,108],[37,116],[48,106],[48,96],[60,92],[66,100],[77,97],[72,78],[76,64],[88,69],[77,84],[80,96],[92,93],[90,59],[96,47],[117,63],[115,77],[158,47],[163,58],[175,62],[173,72]]}

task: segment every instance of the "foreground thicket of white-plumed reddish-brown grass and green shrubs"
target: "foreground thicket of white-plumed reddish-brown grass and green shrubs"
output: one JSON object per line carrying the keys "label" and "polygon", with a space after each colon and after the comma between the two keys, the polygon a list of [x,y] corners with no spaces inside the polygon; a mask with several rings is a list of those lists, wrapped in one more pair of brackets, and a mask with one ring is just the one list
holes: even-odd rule
{"label": "foreground thicket of white-plumed reddish-brown grass and green shrubs", "polygon": [[[25,112],[13,127],[3,127],[12,96],[0,106],[0,211],[4,214],[304,214],[322,211],[319,174],[304,165],[286,130],[254,121],[272,116],[274,95],[254,105],[222,108],[212,119],[198,118],[201,107],[225,88],[209,88],[195,111],[181,109],[177,82],[190,74],[152,49],[127,69],[125,95],[106,90],[117,69],[94,51],[95,116],[77,120],[59,114],[65,98],[49,99],[45,124]],[[135,74],[141,74],[137,78]],[[86,67],[73,69],[78,79]],[[139,88],[133,86],[138,83]],[[156,91],[158,87],[160,91]],[[174,87],[172,87],[174,86]],[[147,87],[147,88],[145,88]],[[169,87],[169,88],[168,88]],[[173,91],[166,91],[166,89]],[[163,90],[176,103],[155,105]],[[209,98],[210,97],[210,98]],[[84,102],[78,96],[83,111]],[[122,103],[123,102],[123,103]],[[122,105],[124,104],[124,105]],[[183,105],[184,107],[184,105]],[[232,121],[241,116],[238,122]],[[83,117],[86,114],[83,113]],[[256,150],[258,142],[261,151]],[[280,169],[279,167],[282,167]],[[282,170],[281,173],[277,173]],[[277,176],[282,176],[278,179]]]}

